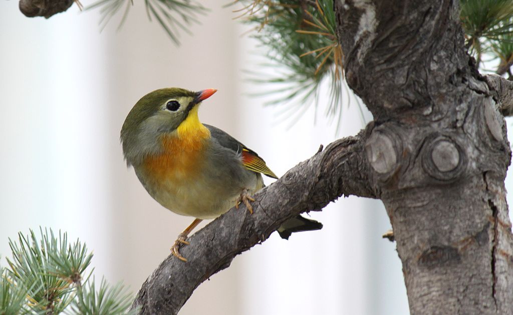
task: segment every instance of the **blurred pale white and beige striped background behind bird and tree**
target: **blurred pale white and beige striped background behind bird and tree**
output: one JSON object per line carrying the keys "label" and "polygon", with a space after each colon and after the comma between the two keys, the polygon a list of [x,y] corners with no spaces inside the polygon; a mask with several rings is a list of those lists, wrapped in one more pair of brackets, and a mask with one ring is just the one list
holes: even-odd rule
{"label": "blurred pale white and beige striped background behind bird and tree", "polygon": [[[121,125],[152,90],[218,89],[201,120],[257,151],[278,176],[371,118],[351,99],[339,129],[313,107],[290,126],[279,108],[250,96],[266,91],[245,73],[259,68],[265,48],[243,35],[231,8],[212,3],[176,47],[139,2],[121,30],[114,19],[102,33],[97,10],[72,6],[45,20],[0,2],[1,257],[18,231],[51,227],[87,243],[97,278],[139,290],[192,221],[155,202],[123,160]],[[381,238],[390,228],[381,201],[341,198],[311,217],[324,228],[289,241],[273,234],[200,285],[181,314],[407,314],[396,246]]]}

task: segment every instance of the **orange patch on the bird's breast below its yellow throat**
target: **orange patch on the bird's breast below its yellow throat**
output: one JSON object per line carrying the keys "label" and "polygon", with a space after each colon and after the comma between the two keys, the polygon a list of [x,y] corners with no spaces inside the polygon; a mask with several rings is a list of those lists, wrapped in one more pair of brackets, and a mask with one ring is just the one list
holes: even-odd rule
{"label": "orange patch on the bird's breast below its yellow throat", "polygon": [[163,152],[148,157],[145,171],[157,183],[193,180],[201,172],[205,143],[210,132],[196,130],[188,135],[163,135]]}

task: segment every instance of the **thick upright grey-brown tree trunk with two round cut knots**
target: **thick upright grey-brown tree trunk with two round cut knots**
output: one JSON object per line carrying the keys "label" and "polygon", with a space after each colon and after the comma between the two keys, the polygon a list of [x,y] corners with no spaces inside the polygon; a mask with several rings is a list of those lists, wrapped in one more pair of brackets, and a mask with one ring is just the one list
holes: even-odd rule
{"label": "thick upright grey-brown tree trunk with two round cut knots", "polygon": [[372,186],[412,314],[513,313],[504,119],[458,1],[336,1],[349,86],[372,112]]}

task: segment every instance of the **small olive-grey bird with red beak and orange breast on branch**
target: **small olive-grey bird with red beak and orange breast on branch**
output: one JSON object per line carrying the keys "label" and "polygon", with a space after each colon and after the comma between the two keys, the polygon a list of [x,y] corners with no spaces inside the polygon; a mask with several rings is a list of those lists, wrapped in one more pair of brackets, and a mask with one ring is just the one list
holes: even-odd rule
{"label": "small olive-grey bird with red beak and orange breast on branch", "polygon": [[[244,203],[253,212],[252,195],[264,187],[263,175],[278,177],[253,150],[223,130],[200,122],[198,110],[217,90],[182,88],[152,91],[135,103],[121,128],[127,166],[132,166],[148,194],[162,206],[194,221],[177,237],[171,253],[182,261],[180,246],[202,221]],[[302,216],[278,232],[320,229]]]}

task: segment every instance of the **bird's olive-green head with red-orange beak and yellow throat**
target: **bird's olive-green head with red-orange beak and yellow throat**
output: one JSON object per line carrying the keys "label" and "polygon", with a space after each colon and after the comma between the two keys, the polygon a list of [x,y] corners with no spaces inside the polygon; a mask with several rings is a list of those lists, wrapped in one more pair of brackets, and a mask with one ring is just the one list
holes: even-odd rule
{"label": "bird's olive-green head with red-orange beak and yellow throat", "polygon": [[136,164],[142,156],[159,152],[162,134],[180,134],[202,128],[198,106],[215,92],[214,89],[192,92],[165,88],[143,96],[128,113],[121,128],[127,163]]}

